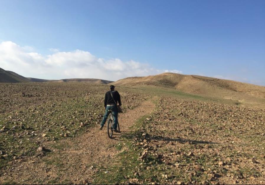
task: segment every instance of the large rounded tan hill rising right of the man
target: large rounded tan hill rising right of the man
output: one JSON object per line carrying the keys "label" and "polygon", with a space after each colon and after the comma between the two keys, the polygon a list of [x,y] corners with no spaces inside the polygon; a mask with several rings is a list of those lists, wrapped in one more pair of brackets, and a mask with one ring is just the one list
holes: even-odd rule
{"label": "large rounded tan hill rising right of the man", "polygon": [[111,84],[151,85],[172,88],[185,93],[238,100],[239,103],[265,103],[264,86],[197,75],[162,73],[154,76],[124,78]]}

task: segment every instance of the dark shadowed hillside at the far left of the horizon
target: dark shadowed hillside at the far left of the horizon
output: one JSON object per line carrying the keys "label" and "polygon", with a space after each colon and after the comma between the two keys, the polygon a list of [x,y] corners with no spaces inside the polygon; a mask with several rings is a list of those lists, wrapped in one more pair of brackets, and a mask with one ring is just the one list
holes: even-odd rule
{"label": "dark shadowed hillside at the far left of the horizon", "polygon": [[17,83],[17,82],[30,82],[27,78],[18,75],[15,72],[12,71],[6,71],[2,68],[0,68],[0,83]]}

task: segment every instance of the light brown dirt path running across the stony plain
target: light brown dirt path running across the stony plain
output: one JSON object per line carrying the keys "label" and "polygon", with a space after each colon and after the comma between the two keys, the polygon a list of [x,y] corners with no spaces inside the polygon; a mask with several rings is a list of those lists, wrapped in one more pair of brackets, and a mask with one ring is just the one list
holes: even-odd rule
{"label": "light brown dirt path running across the stony plain", "polygon": [[137,108],[120,114],[121,133],[115,134],[114,139],[108,138],[106,124],[103,131],[96,126],[80,137],[59,141],[58,148],[47,156],[14,163],[12,169],[0,177],[0,184],[93,183],[97,167],[107,166],[120,152],[114,146],[122,141],[121,136],[130,131],[129,127],[136,120],[150,114],[154,108],[152,100],[147,100]]}

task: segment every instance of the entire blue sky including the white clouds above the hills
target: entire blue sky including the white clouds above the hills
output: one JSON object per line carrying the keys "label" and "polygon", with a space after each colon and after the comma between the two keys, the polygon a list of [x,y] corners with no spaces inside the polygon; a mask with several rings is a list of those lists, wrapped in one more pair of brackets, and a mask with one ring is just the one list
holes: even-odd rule
{"label": "entire blue sky including the white clouds above the hills", "polygon": [[0,25],[0,67],[27,77],[168,70],[265,85],[264,0],[1,0]]}

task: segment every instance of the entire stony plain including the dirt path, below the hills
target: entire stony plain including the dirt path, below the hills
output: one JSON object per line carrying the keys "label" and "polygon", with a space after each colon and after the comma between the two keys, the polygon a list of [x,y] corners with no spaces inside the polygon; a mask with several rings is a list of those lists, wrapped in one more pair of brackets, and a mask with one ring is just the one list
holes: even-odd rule
{"label": "entire stony plain including the dirt path, below the hills", "polygon": [[106,85],[1,87],[1,184],[265,183],[264,109],[120,87],[110,140]]}

